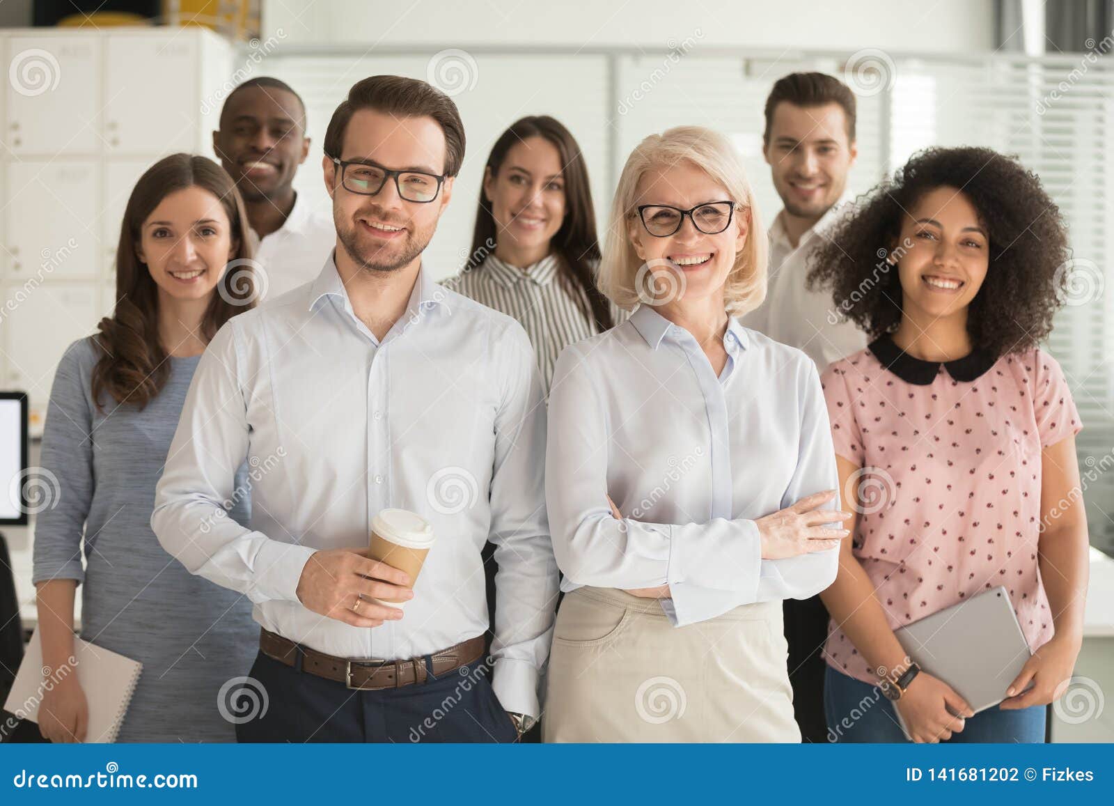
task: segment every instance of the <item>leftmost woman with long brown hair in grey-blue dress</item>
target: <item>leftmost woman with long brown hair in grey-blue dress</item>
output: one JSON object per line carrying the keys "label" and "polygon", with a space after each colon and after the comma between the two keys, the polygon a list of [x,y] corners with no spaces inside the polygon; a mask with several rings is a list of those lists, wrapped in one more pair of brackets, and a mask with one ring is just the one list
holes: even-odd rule
{"label": "leftmost woman with long brown hair in grey-blue dress", "polygon": [[[216,163],[175,154],[148,168],[120,227],[116,310],[69,347],[50,394],[41,464],[60,495],[35,533],[43,663],[62,668],[72,654],[84,583],[81,637],[144,664],[120,741],[235,738],[217,698],[251,668],[251,602],[174,562],[149,521],[197,360],[254,303],[246,232],[243,201]],[[244,494],[226,508],[246,522],[244,468],[238,480]],[[87,718],[70,674],[46,693],[39,729],[53,741],[102,741]]]}

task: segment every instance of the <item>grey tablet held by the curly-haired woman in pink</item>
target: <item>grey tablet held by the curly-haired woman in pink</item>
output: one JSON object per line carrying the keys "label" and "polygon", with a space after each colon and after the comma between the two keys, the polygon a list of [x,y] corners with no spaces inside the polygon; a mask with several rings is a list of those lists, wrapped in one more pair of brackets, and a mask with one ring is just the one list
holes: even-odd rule
{"label": "grey tablet held by the curly-haired woman in pink", "polygon": [[[1001,585],[926,615],[893,634],[922,671],[948,683],[976,713],[1006,699],[1006,689],[1033,654]],[[906,730],[900,712],[893,710]]]}

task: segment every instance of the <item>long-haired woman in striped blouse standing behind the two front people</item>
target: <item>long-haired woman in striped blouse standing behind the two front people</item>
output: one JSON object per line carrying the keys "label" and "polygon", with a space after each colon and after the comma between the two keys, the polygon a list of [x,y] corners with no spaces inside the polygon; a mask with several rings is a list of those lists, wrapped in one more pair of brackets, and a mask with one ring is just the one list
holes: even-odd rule
{"label": "long-haired woman in striped blouse standing behind the two front people", "polygon": [[548,396],[565,346],[620,315],[596,290],[598,263],[580,146],[551,117],[517,120],[488,156],[468,263],[443,284],[526,328]]}

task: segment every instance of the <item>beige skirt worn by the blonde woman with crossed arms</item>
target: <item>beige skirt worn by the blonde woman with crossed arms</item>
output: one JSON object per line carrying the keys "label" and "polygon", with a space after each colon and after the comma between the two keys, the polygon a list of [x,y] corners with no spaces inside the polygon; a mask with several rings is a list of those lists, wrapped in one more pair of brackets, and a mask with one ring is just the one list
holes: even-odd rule
{"label": "beige skirt worn by the blonde woman with crossed arms", "polygon": [[688,627],[625,591],[578,587],[557,614],[545,741],[801,740],[780,601]]}

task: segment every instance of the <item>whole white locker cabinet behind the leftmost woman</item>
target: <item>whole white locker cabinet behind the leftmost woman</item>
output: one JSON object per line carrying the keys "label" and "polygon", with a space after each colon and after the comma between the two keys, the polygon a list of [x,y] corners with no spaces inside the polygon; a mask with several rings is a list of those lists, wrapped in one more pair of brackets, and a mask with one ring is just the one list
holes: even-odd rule
{"label": "whole white locker cabinet behind the leftmost woman", "polygon": [[213,157],[233,52],[203,28],[0,30],[0,302],[20,298],[0,310],[0,388],[27,389],[33,415],[111,311],[136,179],[166,154]]}

